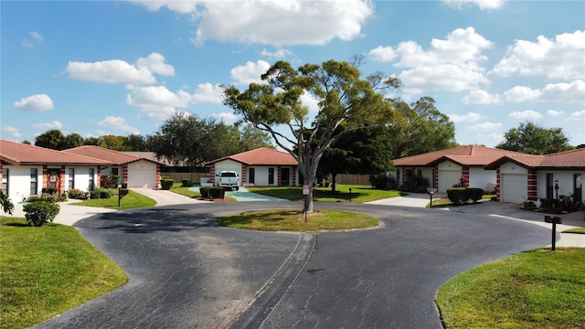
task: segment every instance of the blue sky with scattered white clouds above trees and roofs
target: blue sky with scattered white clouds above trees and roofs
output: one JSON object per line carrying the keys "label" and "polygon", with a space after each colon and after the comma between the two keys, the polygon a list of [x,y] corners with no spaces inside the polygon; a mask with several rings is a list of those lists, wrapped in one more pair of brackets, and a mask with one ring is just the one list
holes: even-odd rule
{"label": "blue sky with scattered white clouds above trees and roofs", "polygon": [[278,60],[361,55],[364,76],[402,81],[388,96],[432,97],[457,143],[494,147],[523,122],[585,143],[584,1],[2,0],[0,11],[5,140],[145,136],[177,111],[231,124],[221,85],[245,90]]}

